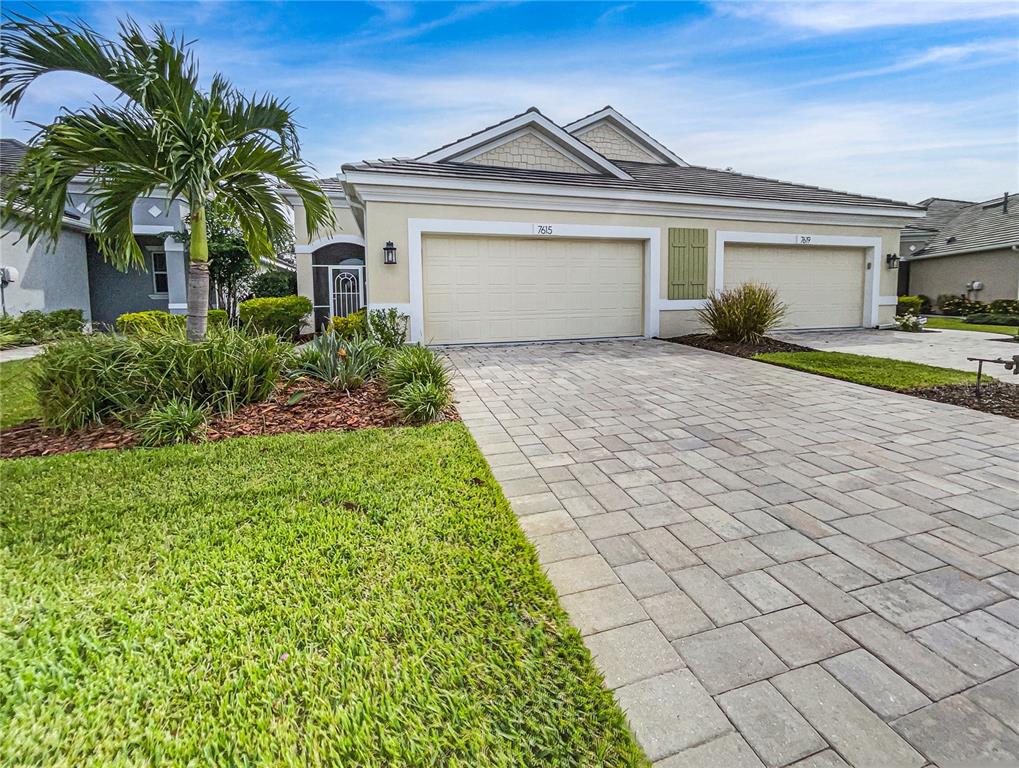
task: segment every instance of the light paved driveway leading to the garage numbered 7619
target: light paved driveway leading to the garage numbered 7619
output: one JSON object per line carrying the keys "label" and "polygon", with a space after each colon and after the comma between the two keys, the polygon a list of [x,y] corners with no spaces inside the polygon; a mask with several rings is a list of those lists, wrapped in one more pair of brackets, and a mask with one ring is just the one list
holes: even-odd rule
{"label": "light paved driveway leading to the garage numbered 7619", "polygon": [[[976,364],[967,358],[1009,359],[1019,354],[1019,344],[1011,337],[999,333],[975,331],[879,331],[873,329],[853,331],[785,331],[773,333],[776,338],[803,344],[814,349],[854,354],[872,354],[928,366],[956,368],[976,372]],[[1019,378],[1002,366],[984,366],[985,374],[1003,381],[1019,383]]]}

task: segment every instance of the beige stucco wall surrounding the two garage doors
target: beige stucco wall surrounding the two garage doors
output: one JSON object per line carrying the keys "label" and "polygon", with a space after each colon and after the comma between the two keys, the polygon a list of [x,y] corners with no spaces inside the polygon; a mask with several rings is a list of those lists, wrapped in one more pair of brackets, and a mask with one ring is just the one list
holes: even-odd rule
{"label": "beige stucco wall surrounding the two garage doors", "polygon": [[[587,213],[572,211],[547,211],[540,209],[486,208],[481,206],[432,205],[425,203],[382,203],[368,202],[365,212],[365,250],[367,254],[368,300],[369,304],[401,304],[411,301],[408,220],[409,219],[465,219],[473,221],[512,221],[540,224],[588,224],[598,226],[639,226],[658,227],[661,230],[661,273],[658,275],[660,296],[667,296],[668,278],[668,232],[669,227],[698,227],[708,230],[708,289],[715,286],[714,249],[715,232],[718,230],[743,230],[749,232],[803,232],[815,235],[846,235],[856,237],[880,237],[882,254],[874,268],[881,270],[880,295],[894,297],[896,294],[897,272],[886,269],[883,254],[898,249],[899,229],[897,227],[857,227],[834,224],[797,224],[784,222],[756,222],[701,218],[679,218],[668,216],[644,216],[639,214]],[[386,240],[392,240],[397,249],[397,264],[383,265],[381,252]],[[880,308],[882,324],[892,322],[894,307]],[[691,333],[696,330],[696,312],[663,311],[660,314],[660,335]]]}

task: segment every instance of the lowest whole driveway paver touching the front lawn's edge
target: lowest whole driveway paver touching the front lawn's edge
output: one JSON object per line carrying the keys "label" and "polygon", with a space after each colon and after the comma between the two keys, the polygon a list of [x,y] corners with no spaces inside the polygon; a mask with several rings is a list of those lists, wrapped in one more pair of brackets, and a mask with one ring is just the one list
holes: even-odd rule
{"label": "lowest whole driveway paver touching the front lawn's edge", "polygon": [[733,729],[687,669],[631,683],[619,689],[615,697],[651,760],[675,755]]}

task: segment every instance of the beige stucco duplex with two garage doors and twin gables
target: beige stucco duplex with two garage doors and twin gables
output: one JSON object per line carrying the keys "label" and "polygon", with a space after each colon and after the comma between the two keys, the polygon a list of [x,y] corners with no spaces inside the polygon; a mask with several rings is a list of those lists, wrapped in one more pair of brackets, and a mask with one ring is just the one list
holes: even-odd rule
{"label": "beige stucco duplex with two garage doors and twin gables", "polygon": [[338,228],[298,232],[316,325],[396,307],[427,343],[672,336],[746,281],[777,288],[790,327],[889,324],[887,255],[922,215],[691,165],[611,107],[567,125],[531,108],[327,187]]}

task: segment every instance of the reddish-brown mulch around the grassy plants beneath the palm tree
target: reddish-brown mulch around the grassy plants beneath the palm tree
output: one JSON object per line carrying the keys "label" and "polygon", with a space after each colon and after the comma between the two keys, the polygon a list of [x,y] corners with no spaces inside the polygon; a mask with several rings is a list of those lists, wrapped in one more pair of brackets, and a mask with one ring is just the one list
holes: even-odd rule
{"label": "reddish-brown mulch around the grassy plants beneath the palm tree", "polygon": [[[291,399],[296,401],[288,404]],[[460,415],[450,406],[442,421],[460,421]],[[386,399],[381,382],[370,381],[347,394],[322,381],[299,379],[281,383],[269,399],[245,405],[232,416],[213,416],[206,439],[287,432],[351,432],[401,425],[399,408]],[[135,433],[119,424],[98,425],[62,435],[47,432],[38,421],[32,421],[0,432],[0,458],[130,448],[137,442]]]}

